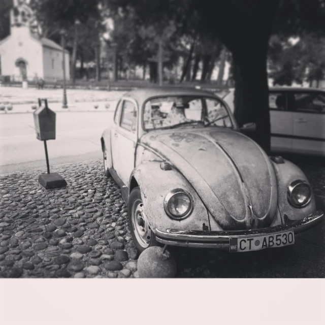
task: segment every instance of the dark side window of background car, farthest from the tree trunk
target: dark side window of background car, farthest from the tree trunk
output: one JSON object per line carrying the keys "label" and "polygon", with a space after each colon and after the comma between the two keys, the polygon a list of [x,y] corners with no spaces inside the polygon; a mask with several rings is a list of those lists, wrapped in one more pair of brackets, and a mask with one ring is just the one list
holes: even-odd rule
{"label": "dark side window of background car, farthest from the tree trunk", "polygon": [[325,114],[325,94],[321,92],[295,93],[295,111]]}

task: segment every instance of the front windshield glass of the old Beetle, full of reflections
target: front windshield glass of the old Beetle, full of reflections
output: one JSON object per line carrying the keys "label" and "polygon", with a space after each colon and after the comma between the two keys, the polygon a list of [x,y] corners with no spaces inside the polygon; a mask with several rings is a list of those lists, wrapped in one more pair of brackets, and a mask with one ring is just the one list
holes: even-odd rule
{"label": "front windshield glass of the old Beetle, full of reflections", "polygon": [[150,99],[143,110],[146,130],[186,125],[233,127],[228,110],[207,96],[164,96]]}

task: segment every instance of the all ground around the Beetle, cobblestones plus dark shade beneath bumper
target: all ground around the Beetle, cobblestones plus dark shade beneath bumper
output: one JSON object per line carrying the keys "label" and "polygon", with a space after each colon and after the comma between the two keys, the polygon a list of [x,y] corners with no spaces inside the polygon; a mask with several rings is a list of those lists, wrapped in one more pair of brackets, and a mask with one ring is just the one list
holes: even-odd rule
{"label": "all ground around the Beetle, cobblestones plus dark shade beneath bumper", "polygon": [[[295,161],[325,198],[325,165]],[[0,277],[138,277],[120,189],[102,161],[53,168],[68,186],[46,190],[44,170],[0,176]],[[312,232],[312,233],[311,233]],[[296,244],[242,254],[170,248],[177,277],[325,277],[325,224]]]}

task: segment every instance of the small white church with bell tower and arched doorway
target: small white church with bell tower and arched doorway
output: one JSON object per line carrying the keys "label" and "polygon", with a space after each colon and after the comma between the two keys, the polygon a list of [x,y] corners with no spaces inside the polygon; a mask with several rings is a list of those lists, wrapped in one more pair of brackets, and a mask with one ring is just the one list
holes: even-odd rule
{"label": "small white church with bell tower and arched doorway", "polygon": [[[62,47],[31,31],[34,15],[26,0],[14,0],[10,15],[10,35],[0,40],[1,75],[11,81],[63,79]],[[69,52],[66,50],[66,79],[70,79]]]}

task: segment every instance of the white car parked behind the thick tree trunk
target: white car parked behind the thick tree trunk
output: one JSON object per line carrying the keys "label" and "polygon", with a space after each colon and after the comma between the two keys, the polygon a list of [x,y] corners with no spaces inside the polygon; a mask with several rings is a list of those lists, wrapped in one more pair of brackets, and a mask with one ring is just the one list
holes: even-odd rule
{"label": "white car parked behind the thick tree trunk", "polygon": [[[234,89],[223,100],[234,112]],[[325,91],[270,87],[271,149],[325,156]]]}

